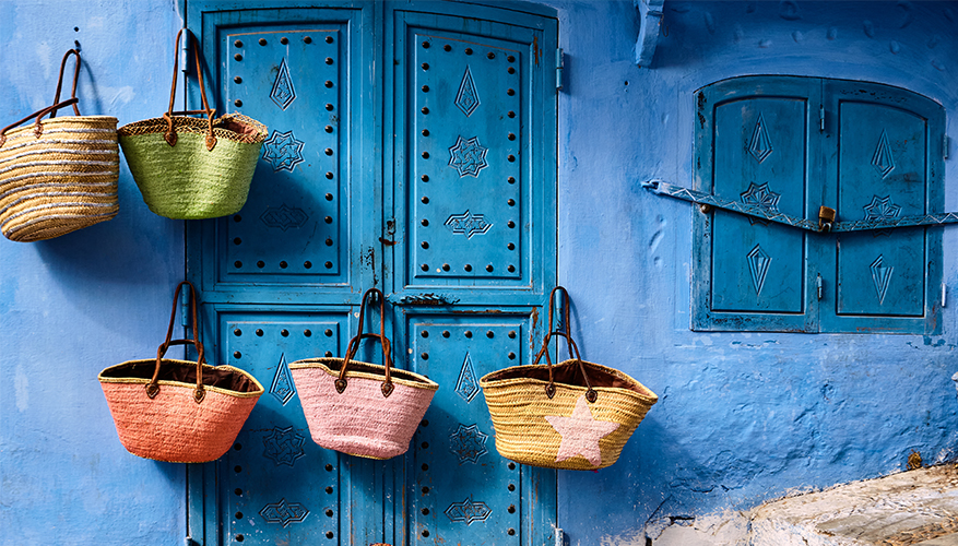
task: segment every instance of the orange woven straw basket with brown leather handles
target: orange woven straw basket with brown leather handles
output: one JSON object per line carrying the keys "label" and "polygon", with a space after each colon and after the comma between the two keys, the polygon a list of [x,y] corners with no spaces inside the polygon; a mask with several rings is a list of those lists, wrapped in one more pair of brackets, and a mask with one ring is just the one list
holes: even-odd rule
{"label": "orange woven straw basket with brown leather handles", "polygon": [[[176,302],[190,287],[192,340],[173,340]],[[196,345],[196,363],[163,358],[170,345]],[[197,339],[196,292],[180,283],[174,296],[166,341],[155,359],[131,360],[103,370],[106,395],[120,442],[127,451],[170,463],[204,463],[223,456],[236,440],[263,387],[232,366],[206,366]]]}

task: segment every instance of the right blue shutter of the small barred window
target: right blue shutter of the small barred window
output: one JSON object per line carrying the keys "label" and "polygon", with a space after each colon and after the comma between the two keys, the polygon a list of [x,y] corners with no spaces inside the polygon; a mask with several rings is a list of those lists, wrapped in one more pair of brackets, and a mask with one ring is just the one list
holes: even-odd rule
{"label": "right blue shutter of the small barred window", "polygon": [[[826,136],[837,147],[829,156],[827,192],[838,218],[942,212],[942,106],[904,90],[861,82],[826,81],[825,88]],[[933,332],[941,297],[941,233],[912,227],[838,234],[823,264],[823,271],[836,275],[827,292],[833,299],[823,301],[823,329]]]}

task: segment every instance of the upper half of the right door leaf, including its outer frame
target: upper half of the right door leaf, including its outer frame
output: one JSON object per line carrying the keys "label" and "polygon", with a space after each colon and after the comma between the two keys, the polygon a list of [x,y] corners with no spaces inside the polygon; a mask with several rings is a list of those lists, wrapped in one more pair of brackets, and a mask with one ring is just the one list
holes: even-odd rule
{"label": "upper half of the right door leaf, including its outer frame", "polygon": [[541,305],[555,276],[555,63],[543,52],[557,47],[555,22],[418,5],[435,8],[391,16],[394,292]]}

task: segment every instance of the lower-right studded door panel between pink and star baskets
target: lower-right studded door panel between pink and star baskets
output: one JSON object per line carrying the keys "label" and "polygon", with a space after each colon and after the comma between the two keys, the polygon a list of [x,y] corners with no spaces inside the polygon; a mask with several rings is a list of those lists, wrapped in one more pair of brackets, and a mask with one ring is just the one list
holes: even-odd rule
{"label": "lower-right studded door panel between pink and star baskets", "polygon": [[412,314],[407,331],[415,370],[442,385],[413,442],[411,538],[523,544],[532,470],[496,453],[478,378],[525,361],[530,317]]}

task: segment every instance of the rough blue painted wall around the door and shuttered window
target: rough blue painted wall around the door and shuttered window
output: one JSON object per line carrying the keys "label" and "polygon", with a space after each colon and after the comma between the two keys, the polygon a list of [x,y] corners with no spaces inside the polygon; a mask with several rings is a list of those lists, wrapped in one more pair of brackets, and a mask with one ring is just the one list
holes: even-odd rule
{"label": "rough blue painted wall around the door and shuttered window", "polygon": [[[542,3],[558,10],[566,51],[559,278],[575,333],[584,357],[660,395],[616,465],[559,473],[571,544],[644,544],[647,524],[889,474],[911,450],[953,459],[958,228],[944,236],[942,336],[697,333],[694,212],[639,182],[690,183],[693,92],[735,75],[907,87],[941,102],[958,135],[958,2],[669,0],[651,69],[635,66],[631,0]],[[0,2],[0,123],[49,103],[73,40],[81,111],[159,115],[180,25],[173,0]],[[0,240],[0,544],[182,543],[184,468],[129,455],[96,381],[162,341],[182,223],[150,213],[126,166],[120,206],[60,239]]]}

